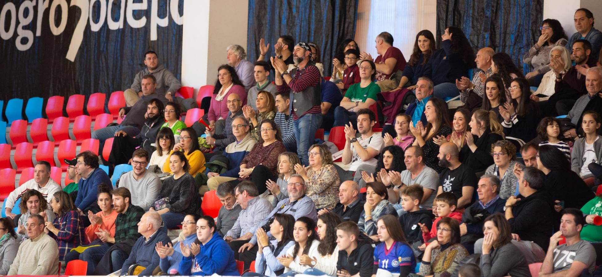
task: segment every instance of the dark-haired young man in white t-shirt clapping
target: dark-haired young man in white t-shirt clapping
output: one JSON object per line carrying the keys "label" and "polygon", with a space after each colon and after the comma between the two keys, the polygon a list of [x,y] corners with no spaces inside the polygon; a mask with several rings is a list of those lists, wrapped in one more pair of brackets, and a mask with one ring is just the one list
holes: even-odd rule
{"label": "dark-haired young man in white t-shirt clapping", "polygon": [[[361,136],[355,137],[356,130],[353,129],[353,124],[345,125],[345,148],[343,149],[343,163],[349,166],[349,174],[356,172],[353,181],[358,183],[360,187],[365,186],[362,180],[362,171],[374,173],[376,171],[376,156],[382,151],[384,146],[380,133],[372,132],[376,115],[370,109],[360,109],[356,112],[358,115],[358,131]],[[341,179],[342,180],[342,179]],[[360,183],[361,181],[361,183]],[[362,184],[363,183],[363,184]]]}

